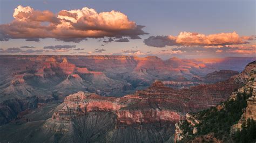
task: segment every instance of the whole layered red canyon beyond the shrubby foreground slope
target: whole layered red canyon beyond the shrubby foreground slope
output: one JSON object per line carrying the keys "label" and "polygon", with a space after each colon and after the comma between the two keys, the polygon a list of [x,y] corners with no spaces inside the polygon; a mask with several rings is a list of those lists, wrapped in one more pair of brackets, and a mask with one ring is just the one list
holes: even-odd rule
{"label": "whole layered red canyon beyond the shrubby foreground slope", "polygon": [[224,102],[252,69],[156,56],[12,55],[0,65],[3,142],[172,142],[187,112]]}

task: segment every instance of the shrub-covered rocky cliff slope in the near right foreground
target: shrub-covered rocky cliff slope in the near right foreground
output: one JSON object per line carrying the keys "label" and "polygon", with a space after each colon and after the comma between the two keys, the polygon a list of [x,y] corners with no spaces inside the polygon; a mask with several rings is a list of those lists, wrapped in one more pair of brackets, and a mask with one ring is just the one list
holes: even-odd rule
{"label": "shrub-covered rocky cliff slope in the near right foreground", "polygon": [[[186,119],[176,124],[175,141],[197,142],[239,140],[236,134],[248,119],[256,120],[256,62],[249,63],[241,74],[231,79],[244,84],[232,92],[230,98],[214,108],[187,113]],[[221,117],[226,115],[225,117]],[[212,117],[214,117],[212,119]],[[237,123],[237,124],[236,124]],[[248,131],[250,132],[250,131]],[[245,137],[245,134],[244,134]],[[251,138],[250,138],[251,139]],[[255,139],[255,138],[254,138]]]}

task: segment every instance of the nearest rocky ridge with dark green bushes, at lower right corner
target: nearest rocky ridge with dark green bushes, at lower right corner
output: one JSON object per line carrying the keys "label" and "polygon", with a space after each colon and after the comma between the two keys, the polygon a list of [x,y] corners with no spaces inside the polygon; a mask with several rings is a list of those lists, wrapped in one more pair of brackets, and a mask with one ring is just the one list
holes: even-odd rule
{"label": "nearest rocky ridge with dark green bushes, at lower right corner", "polygon": [[[255,116],[255,96],[256,96],[256,61],[249,63],[245,70],[242,71],[241,74],[233,76],[235,81],[239,81],[243,83],[244,85],[241,88],[238,88],[237,91],[232,92],[230,98],[227,102],[221,103],[215,108],[196,112],[196,113],[187,113],[186,119],[181,120],[178,123],[176,123],[176,132],[175,132],[175,142],[197,142],[197,141],[218,141],[218,142],[224,142],[224,141],[233,141],[233,136],[235,132],[241,130],[242,124],[246,123],[246,120],[248,118],[256,120]],[[245,100],[245,98],[248,97],[248,99]],[[239,102],[237,104],[237,102]],[[247,106],[240,107],[241,105],[244,105],[245,102],[247,102]],[[233,111],[234,109],[239,109],[236,105],[239,105],[240,111]],[[228,109],[229,106],[231,106],[231,109]],[[211,128],[211,132],[205,131],[203,126],[204,124],[207,124],[206,120],[208,120],[208,116],[211,116],[211,112],[214,115],[214,118],[218,118],[219,112],[226,112],[226,114],[230,112],[238,113],[238,112],[244,112],[240,114],[240,117],[233,117],[233,120],[231,123],[233,123],[231,126],[226,127],[226,131],[223,131],[223,129],[217,129],[213,130]],[[234,115],[229,115],[234,116]],[[239,119],[240,118],[240,119]],[[237,120],[236,120],[237,119]],[[235,124],[235,122],[238,122]],[[211,123],[211,124],[217,124],[217,123]],[[219,124],[219,123],[218,123]],[[226,124],[226,123],[224,123]],[[220,125],[215,125],[220,126]],[[200,128],[200,131],[198,131]],[[202,132],[204,130],[204,132]],[[218,130],[220,130],[222,135],[218,135]],[[199,133],[198,133],[199,132]],[[229,132],[231,134],[229,134]],[[223,137],[223,135],[225,137]],[[231,136],[230,136],[231,135]],[[226,140],[223,140],[226,139]]]}

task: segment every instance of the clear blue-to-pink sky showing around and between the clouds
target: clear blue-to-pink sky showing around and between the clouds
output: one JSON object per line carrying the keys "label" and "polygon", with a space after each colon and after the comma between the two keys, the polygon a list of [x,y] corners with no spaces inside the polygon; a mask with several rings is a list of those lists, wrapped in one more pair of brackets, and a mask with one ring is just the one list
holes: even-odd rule
{"label": "clear blue-to-pink sky showing around and between the clouds", "polygon": [[[77,48],[84,48],[85,52],[93,52],[96,48],[104,48],[103,53],[95,54],[118,54],[122,51],[140,51],[156,54],[158,51],[170,50],[176,46],[164,48],[145,45],[143,40],[156,35],[179,35],[180,32],[197,32],[205,35],[215,33],[232,33],[235,31],[239,36],[256,35],[255,30],[255,1],[12,1],[2,0],[0,2],[0,24],[12,22],[14,9],[18,5],[30,6],[35,10],[49,10],[58,13],[60,10],[82,9],[84,7],[95,9],[98,13],[104,11],[120,11],[129,20],[137,25],[144,25],[144,32],[148,35],[141,35],[142,39],[130,40],[130,42],[111,42],[104,44],[99,39],[89,38],[87,41],[77,43],[56,41],[46,38],[39,42],[25,41],[24,39],[11,39],[0,41],[2,49],[20,46],[35,46],[41,49],[50,45],[76,45]],[[255,40],[251,41],[255,44]],[[103,45],[104,46],[101,46]],[[251,46],[249,45],[249,46]],[[0,51],[1,52],[1,51]],[[254,51],[253,51],[254,52]],[[57,54],[79,54],[75,51],[60,52]],[[4,53],[8,54],[8,53]],[[14,54],[14,53],[12,53]],[[17,53],[21,54],[21,53]],[[22,53],[24,54],[24,53]],[[41,53],[56,54],[56,53]],[[214,54],[211,57],[232,56],[237,54]],[[241,56],[245,56],[242,54]],[[161,55],[160,55],[161,56]],[[199,55],[187,54],[165,54],[164,56],[178,56],[181,58],[197,57]],[[202,55],[201,55],[202,56]],[[209,56],[205,54],[202,57]],[[239,55],[238,55],[239,56]],[[255,53],[252,54],[255,56]]]}

